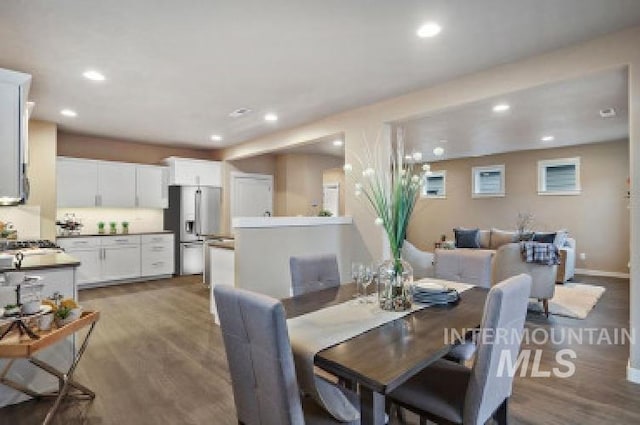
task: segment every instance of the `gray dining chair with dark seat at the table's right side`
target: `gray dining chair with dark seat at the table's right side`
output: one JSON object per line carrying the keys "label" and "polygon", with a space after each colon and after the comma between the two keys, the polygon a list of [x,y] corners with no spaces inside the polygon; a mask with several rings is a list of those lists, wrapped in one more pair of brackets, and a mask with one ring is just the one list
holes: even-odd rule
{"label": "gray dining chair with dark seat at the table's right side", "polygon": [[[420,415],[421,424],[428,419],[439,424],[481,425],[491,417],[506,424],[513,376],[508,369],[499,373],[499,364],[505,353],[516,364],[530,292],[531,277],[526,274],[491,288],[481,324],[485,334],[478,339],[473,367],[439,360],[392,391],[389,399]],[[508,337],[489,340],[499,334]]]}

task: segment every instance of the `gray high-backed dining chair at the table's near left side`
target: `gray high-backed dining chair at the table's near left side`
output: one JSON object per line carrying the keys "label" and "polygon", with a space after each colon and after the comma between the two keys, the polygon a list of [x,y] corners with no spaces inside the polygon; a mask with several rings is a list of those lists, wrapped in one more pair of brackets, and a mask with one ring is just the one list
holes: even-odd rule
{"label": "gray high-backed dining chair at the table's near left side", "polygon": [[[224,285],[216,285],[213,294],[238,423],[338,424],[311,398],[300,396],[284,307],[280,301]],[[357,405],[357,395],[343,391]]]}

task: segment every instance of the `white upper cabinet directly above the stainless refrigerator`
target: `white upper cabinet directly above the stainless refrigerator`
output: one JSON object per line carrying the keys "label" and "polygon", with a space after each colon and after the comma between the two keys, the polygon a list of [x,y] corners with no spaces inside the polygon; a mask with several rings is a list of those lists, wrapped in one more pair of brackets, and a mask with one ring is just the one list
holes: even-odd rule
{"label": "white upper cabinet directly above the stainless refrigerator", "polygon": [[170,157],[165,163],[169,166],[169,184],[172,186],[222,187],[220,161]]}

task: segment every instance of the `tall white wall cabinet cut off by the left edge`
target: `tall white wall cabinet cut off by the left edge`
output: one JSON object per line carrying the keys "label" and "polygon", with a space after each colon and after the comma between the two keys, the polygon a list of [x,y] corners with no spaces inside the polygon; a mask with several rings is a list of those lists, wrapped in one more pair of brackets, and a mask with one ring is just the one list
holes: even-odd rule
{"label": "tall white wall cabinet cut off by the left edge", "polygon": [[0,206],[29,196],[27,181],[27,96],[31,75],[0,68]]}

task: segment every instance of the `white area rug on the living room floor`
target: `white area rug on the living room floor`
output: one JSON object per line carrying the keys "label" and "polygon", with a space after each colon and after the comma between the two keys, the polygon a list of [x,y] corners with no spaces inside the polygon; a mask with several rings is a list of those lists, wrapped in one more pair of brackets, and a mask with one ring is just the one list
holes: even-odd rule
{"label": "white area rug on the living room floor", "polygon": [[[586,319],[596,305],[605,288],[596,285],[567,282],[556,285],[556,294],[549,300],[549,312],[558,316]],[[542,311],[542,303],[531,300],[530,311]]]}

